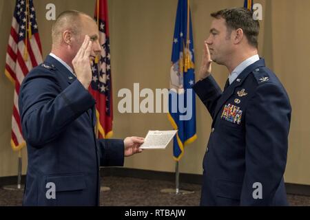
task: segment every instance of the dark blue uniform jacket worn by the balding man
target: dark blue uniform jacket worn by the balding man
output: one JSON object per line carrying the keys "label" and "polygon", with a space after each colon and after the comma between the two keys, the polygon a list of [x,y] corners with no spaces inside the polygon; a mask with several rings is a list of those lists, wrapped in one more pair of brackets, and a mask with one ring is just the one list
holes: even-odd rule
{"label": "dark blue uniform jacket worn by the balding man", "polygon": [[19,94],[28,150],[23,205],[99,205],[99,166],[123,166],[124,145],[123,140],[96,139],[94,104],[52,56],[25,77]]}

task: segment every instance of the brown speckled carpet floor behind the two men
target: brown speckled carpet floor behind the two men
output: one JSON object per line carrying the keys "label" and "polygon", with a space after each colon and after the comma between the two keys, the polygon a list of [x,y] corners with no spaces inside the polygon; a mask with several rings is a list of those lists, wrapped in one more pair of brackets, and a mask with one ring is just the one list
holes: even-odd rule
{"label": "brown speckled carpet floor behind the two men", "polygon": [[[200,185],[180,184],[180,189],[190,190],[187,195],[163,193],[174,188],[172,181],[137,179],[130,177],[104,177],[102,186],[110,187],[101,192],[101,206],[198,206]],[[0,206],[21,206],[23,190],[0,188]],[[288,195],[291,206],[310,206],[310,197]]]}

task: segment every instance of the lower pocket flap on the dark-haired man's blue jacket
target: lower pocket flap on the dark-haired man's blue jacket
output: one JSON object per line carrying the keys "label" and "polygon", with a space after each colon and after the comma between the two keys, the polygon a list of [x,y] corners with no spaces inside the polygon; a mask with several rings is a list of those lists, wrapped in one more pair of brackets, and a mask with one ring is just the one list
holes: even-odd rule
{"label": "lower pocket flap on the dark-haired man's blue jacket", "polygon": [[242,184],[219,180],[217,184],[216,195],[218,197],[240,200],[241,190]]}

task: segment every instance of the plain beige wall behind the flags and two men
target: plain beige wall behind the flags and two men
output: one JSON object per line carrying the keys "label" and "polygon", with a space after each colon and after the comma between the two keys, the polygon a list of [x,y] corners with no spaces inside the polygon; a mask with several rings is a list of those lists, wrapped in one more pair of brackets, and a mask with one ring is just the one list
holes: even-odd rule
{"label": "plain beige wall behind the flags and two men", "polygon": [[[242,0],[192,0],[192,21],[196,67],[200,63],[203,41],[209,32],[210,12],[221,8],[241,6]],[[278,75],[291,98],[293,117],[289,136],[289,156],[285,178],[287,182],[310,184],[307,168],[310,166],[309,134],[307,118],[309,102],[310,31],[305,28],[310,21],[310,0],[256,1],[263,5],[263,21],[260,32],[260,56]],[[40,0],[34,1],[39,24],[43,55],[50,51],[50,28],[52,21],[45,20],[45,5],[54,3],[56,14],[62,10],[76,9],[93,14],[94,0]],[[140,88],[167,88],[172,50],[172,37],[176,17],[177,0],[110,0],[110,41],[114,95],[114,137],[127,135],[145,136],[151,129],[172,129],[167,115],[125,113],[117,111],[121,88],[133,89],[133,83]],[[12,19],[13,1],[0,0],[0,69],[4,69],[6,44]],[[4,10],[5,9],[5,10]],[[227,69],[214,65],[214,76],[224,85]],[[0,176],[16,175],[17,154],[9,147],[10,118],[12,111],[13,87],[0,74]],[[142,99],[141,99],[142,100]],[[203,104],[197,99],[198,140],[185,148],[180,162],[181,173],[200,174],[205,146],[209,137],[211,118]],[[303,116],[305,115],[305,116]],[[23,152],[25,156],[25,151]],[[25,172],[25,157],[23,157]],[[174,171],[172,145],[161,151],[144,151],[127,158],[125,166],[147,170]]]}

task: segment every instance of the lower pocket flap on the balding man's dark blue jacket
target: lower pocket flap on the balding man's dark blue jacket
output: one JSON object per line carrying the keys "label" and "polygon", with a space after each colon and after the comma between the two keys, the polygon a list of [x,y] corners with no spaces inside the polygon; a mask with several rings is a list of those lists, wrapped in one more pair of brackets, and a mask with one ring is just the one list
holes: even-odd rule
{"label": "lower pocket flap on the balding man's dark blue jacket", "polygon": [[46,182],[54,183],[56,192],[83,190],[86,188],[83,173],[50,175],[46,178]]}

